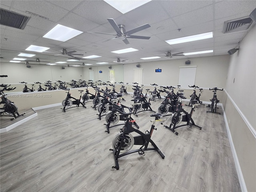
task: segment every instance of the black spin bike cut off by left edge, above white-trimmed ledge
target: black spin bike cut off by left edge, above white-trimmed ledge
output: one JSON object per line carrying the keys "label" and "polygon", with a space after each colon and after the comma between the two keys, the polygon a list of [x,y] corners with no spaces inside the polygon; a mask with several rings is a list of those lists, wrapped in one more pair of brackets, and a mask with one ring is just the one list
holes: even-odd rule
{"label": "black spin bike cut off by left edge, above white-trimmed ledge", "polygon": [[[10,101],[7,99],[6,94],[4,94],[4,91],[11,91],[16,89],[15,88],[8,88],[10,85],[7,84],[1,84],[1,87],[3,87],[3,89],[0,90],[1,92],[1,104],[4,104],[3,107],[0,108],[0,116],[7,116],[7,117],[13,117],[11,118],[11,120],[14,120],[15,118],[18,118],[20,116],[23,116],[26,113],[23,114],[19,114],[18,113],[18,107],[14,104],[14,102]],[[4,115],[7,114],[7,115]]]}

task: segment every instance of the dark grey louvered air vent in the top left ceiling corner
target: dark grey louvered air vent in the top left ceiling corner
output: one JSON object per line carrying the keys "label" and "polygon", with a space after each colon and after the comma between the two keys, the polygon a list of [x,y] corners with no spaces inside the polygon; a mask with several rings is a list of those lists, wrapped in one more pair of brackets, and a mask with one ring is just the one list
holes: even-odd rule
{"label": "dark grey louvered air vent in the top left ceiling corner", "polygon": [[30,17],[8,11],[5,9],[1,9],[1,25],[5,25],[8,27],[14,27],[17,29],[24,29]]}

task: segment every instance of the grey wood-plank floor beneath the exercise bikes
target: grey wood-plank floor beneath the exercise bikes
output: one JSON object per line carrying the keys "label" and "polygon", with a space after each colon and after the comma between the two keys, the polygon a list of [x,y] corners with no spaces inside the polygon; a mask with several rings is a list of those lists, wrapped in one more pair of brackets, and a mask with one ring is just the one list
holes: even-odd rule
{"label": "grey wood-plank floor beneath the exercise bikes", "polygon": [[[130,106],[131,96],[125,98],[122,104]],[[152,109],[161,101],[152,102]],[[122,126],[107,134],[104,117],[97,119],[92,102],[86,106],[66,113],[60,107],[38,110],[37,117],[0,134],[1,192],[241,191],[223,115],[198,106],[193,119],[202,130],[184,126],[178,136],[156,124],[152,140],[165,158],[134,153],[120,158],[116,170],[109,148]],[[142,132],[150,130],[150,114],[133,116]]]}

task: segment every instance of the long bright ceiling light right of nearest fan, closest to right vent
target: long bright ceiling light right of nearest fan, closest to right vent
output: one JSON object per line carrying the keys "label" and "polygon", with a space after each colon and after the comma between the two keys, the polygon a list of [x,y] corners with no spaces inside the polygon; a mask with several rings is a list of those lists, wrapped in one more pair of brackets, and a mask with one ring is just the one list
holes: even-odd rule
{"label": "long bright ceiling light right of nearest fan, closest to right vent", "polygon": [[185,42],[197,41],[197,40],[202,40],[202,39],[208,39],[208,38],[212,38],[212,37],[213,37],[213,33],[208,32],[208,33],[202,33],[202,34],[198,34],[198,35],[170,39],[170,40],[166,40],[165,42],[170,45],[173,45],[173,44],[178,44],[178,43],[185,43]]}

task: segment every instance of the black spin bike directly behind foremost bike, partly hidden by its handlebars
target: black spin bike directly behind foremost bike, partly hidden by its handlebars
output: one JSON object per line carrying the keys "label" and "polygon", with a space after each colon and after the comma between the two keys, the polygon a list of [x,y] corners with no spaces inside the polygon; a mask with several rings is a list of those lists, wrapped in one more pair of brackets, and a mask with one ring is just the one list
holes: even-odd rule
{"label": "black spin bike directly behind foremost bike, partly hidden by its handlebars", "polygon": [[[112,110],[111,112],[109,112],[108,114],[106,114],[106,125],[107,130],[105,132],[109,133],[109,129],[112,127],[116,127],[116,126],[120,126],[120,125],[124,125],[124,123],[122,124],[117,124],[119,121],[125,121],[127,118],[129,118],[130,120],[133,121],[133,118],[129,115],[124,115],[123,113],[125,113],[124,108],[128,108],[124,105],[120,105],[119,104],[115,104],[113,103],[112,105]],[[110,124],[112,124],[112,126],[110,126]],[[138,124],[136,124],[136,122],[133,123],[137,128],[139,128]]]}

